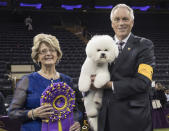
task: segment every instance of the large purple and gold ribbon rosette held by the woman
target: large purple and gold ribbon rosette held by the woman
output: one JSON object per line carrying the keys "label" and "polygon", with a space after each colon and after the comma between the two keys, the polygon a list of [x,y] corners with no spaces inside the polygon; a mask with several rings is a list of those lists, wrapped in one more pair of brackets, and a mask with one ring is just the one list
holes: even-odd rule
{"label": "large purple and gold ribbon rosette held by the woman", "polygon": [[40,103],[51,104],[54,109],[48,120],[42,120],[42,131],[69,131],[73,124],[75,92],[68,84],[52,83],[42,93]]}

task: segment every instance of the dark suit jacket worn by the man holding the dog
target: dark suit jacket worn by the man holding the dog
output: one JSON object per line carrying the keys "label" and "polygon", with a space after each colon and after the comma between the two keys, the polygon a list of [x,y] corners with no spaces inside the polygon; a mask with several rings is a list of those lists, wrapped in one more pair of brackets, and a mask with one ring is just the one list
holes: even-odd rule
{"label": "dark suit jacket worn by the man holding the dog", "polygon": [[138,73],[140,64],[155,65],[154,46],[150,40],[131,34],[109,68],[114,91],[104,90],[99,131],[152,131],[151,80]]}

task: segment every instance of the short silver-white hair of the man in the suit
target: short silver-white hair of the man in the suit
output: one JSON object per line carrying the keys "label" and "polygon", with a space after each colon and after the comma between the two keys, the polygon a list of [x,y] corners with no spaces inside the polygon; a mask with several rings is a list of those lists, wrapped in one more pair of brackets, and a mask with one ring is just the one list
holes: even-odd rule
{"label": "short silver-white hair of the man in the suit", "polygon": [[113,18],[113,15],[114,15],[114,11],[118,8],[127,8],[129,13],[130,13],[130,16],[131,18],[134,20],[134,11],[132,8],[130,8],[128,5],[126,4],[117,4],[112,10],[111,10],[111,13],[110,13],[110,20],[112,21],[112,18]]}

